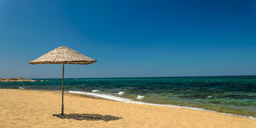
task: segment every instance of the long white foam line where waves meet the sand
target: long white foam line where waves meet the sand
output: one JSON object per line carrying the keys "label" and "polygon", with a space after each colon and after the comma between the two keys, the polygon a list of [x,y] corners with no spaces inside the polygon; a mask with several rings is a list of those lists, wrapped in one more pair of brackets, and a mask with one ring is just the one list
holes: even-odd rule
{"label": "long white foam line where waves meet the sand", "polygon": [[[147,104],[147,105],[153,105],[153,106],[165,106],[165,107],[176,107],[176,108],[188,108],[188,109],[192,109],[192,110],[211,111],[213,113],[220,113],[220,112],[217,112],[214,110],[206,110],[206,109],[196,108],[196,107],[184,107],[184,106],[168,105],[168,104],[144,103],[144,102],[132,101],[130,99],[115,97],[115,96],[106,95],[106,94],[96,94],[96,93],[88,93],[88,92],[81,92],[81,91],[68,91],[68,92],[69,93],[77,93],[77,94],[85,94],[85,95],[90,95],[90,96],[95,96],[95,97],[101,97],[101,98],[105,98],[105,99],[116,100],[116,101],[121,101],[121,102],[126,102],[126,103]],[[239,115],[227,114],[227,113],[221,113],[221,114],[228,115],[228,116],[236,116],[236,117],[246,117],[246,118],[256,120],[256,117],[239,116]]]}

